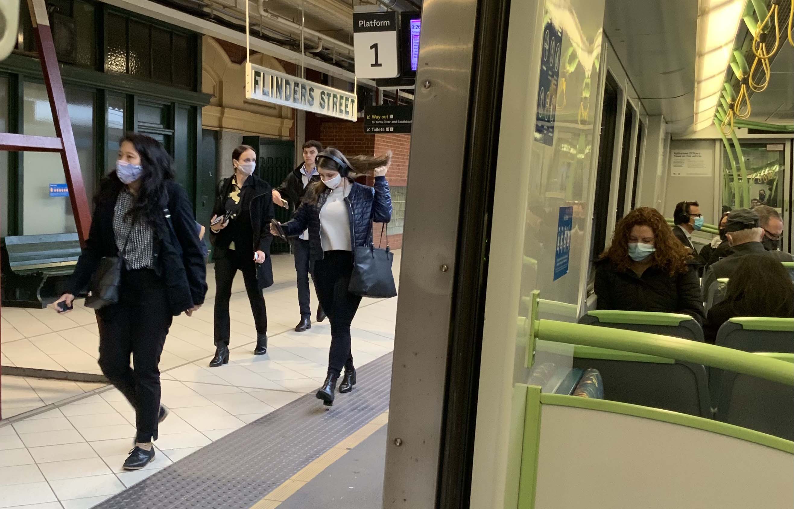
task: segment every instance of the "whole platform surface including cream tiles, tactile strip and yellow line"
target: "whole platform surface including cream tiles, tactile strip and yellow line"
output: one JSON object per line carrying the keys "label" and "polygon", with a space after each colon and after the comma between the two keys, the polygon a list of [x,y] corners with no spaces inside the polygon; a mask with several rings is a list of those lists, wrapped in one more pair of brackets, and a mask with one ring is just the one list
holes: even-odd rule
{"label": "whole platform surface including cream tiles, tactile strip and yellow line", "polygon": [[[395,273],[399,274],[399,251]],[[161,365],[163,403],[172,412],[160,425],[156,459],[144,470],[121,470],[134,435],[134,413],[114,388],[4,376],[0,507],[262,508],[278,503],[299,507],[289,506],[287,495],[311,496],[327,476],[341,474],[338,465],[345,463],[339,461],[371,457],[387,422],[397,300],[362,302],[353,322],[359,384],[327,409],[314,398],[314,390],[325,376],[329,325],[326,321],[314,323],[310,331],[293,331],[297,293],[291,257],[274,257],[274,274],[276,285],[265,290],[270,325],[267,355],[252,354],[252,318],[241,278],[232,298],[232,305],[239,307],[232,311],[233,348],[228,365],[213,369],[206,365],[213,350],[212,285],[206,304],[195,316],[175,320],[166,341],[165,365]],[[208,279],[212,280],[211,275]],[[64,340],[88,356],[95,355],[95,323],[73,320],[80,320],[80,313],[88,315],[84,309],[68,316],[24,310],[30,316],[25,320],[9,318],[5,311],[4,339],[9,326],[23,336],[4,343],[4,354],[11,350],[13,356],[9,345],[17,342],[23,342],[19,343],[21,351],[33,346],[44,352],[45,345]],[[59,320],[71,316],[75,325],[64,327],[71,324],[56,323],[47,312]],[[34,319],[50,329],[44,331],[44,338],[30,334],[34,327],[44,330]],[[17,327],[20,323],[30,327]],[[54,351],[48,349],[48,357],[65,368],[65,357],[56,358],[63,354]],[[25,357],[17,355],[3,362],[18,358]],[[379,497],[372,507],[380,505],[382,437],[377,444],[377,468],[368,468],[366,479],[358,482],[348,477],[356,469],[345,467],[340,481],[348,491],[337,498],[367,492]],[[336,466],[326,469],[331,463]],[[367,488],[357,489],[364,481]],[[136,501],[132,503],[129,497]]]}

